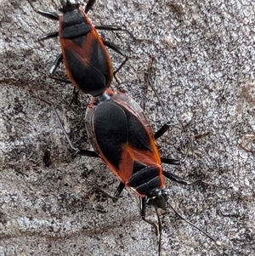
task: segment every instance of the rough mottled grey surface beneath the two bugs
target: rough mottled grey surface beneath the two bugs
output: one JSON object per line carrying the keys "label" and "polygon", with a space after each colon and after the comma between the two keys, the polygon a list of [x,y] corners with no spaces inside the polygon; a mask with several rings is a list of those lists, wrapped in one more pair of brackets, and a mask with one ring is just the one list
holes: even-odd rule
{"label": "rough mottled grey surface beneath the two bugs", "polygon": [[[58,2],[35,5],[54,11]],[[143,39],[102,32],[130,54],[118,73],[122,84],[113,87],[144,107],[155,130],[171,121],[157,141],[161,156],[184,157],[192,135],[211,132],[195,140],[182,166],[164,165],[209,185],[167,181],[168,204],[233,249],[216,247],[168,207],[162,255],[254,255],[254,1],[99,0],[89,17],[96,25],[127,26]],[[112,195],[118,181],[100,160],[73,156],[54,112],[36,98],[53,101],[74,145],[90,148],[83,123],[89,97],[70,105],[71,84],[48,77],[58,39],[37,42],[58,24],[24,0],[2,0],[0,24],[0,255],[156,255],[137,196],[125,190],[113,203],[96,191],[94,185]],[[118,66],[122,57],[111,56]],[[151,56],[151,81],[167,118],[146,82]],[[56,76],[65,77],[63,66]]]}

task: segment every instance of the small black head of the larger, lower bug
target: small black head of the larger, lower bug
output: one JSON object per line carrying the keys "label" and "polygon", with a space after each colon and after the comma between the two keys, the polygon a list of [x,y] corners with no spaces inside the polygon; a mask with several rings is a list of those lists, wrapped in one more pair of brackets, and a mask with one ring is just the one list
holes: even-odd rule
{"label": "small black head of the larger, lower bug", "polygon": [[168,191],[164,189],[156,189],[150,192],[150,196],[147,196],[146,203],[152,205],[155,208],[166,209]]}

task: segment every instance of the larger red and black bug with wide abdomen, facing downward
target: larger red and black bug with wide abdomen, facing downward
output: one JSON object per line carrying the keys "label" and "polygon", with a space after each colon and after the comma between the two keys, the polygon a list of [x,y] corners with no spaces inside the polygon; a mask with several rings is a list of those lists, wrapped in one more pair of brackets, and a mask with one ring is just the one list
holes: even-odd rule
{"label": "larger red and black bug with wide abdomen, facing downward", "polygon": [[86,111],[85,124],[94,151],[75,148],[59,121],[73,150],[82,156],[100,157],[116,174],[120,184],[114,198],[120,196],[125,186],[139,196],[140,216],[156,229],[160,255],[161,220],[157,211],[157,223],[146,219],[146,205],[166,209],[167,189],[163,176],[184,185],[194,185],[201,180],[190,183],[163,171],[161,162],[180,164],[180,160],[160,157],[156,147],[155,139],[164,134],[168,126],[153,134],[144,111],[126,94],[107,89],[104,94],[93,97]]}

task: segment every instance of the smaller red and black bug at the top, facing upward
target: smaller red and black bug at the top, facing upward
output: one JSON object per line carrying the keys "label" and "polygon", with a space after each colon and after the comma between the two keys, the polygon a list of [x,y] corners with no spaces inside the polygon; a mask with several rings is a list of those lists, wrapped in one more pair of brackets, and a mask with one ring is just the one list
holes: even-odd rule
{"label": "smaller red and black bug at the top, facing upward", "polygon": [[[95,0],[88,0],[84,11],[80,8],[80,3],[60,0],[62,6],[59,11],[62,15],[36,9],[31,0],[28,2],[38,14],[52,20],[59,20],[59,31],[49,33],[41,38],[59,36],[62,53],[54,61],[50,74],[63,60],[66,74],[77,89],[93,96],[103,94],[105,89],[111,85],[114,74],[126,63],[128,57],[121,48],[100,37],[97,30],[127,30],[121,26],[93,26],[87,13],[94,6]],[[133,37],[132,33],[129,31],[127,33]],[[125,57],[122,65],[116,71],[113,71],[111,59],[105,46]]]}

